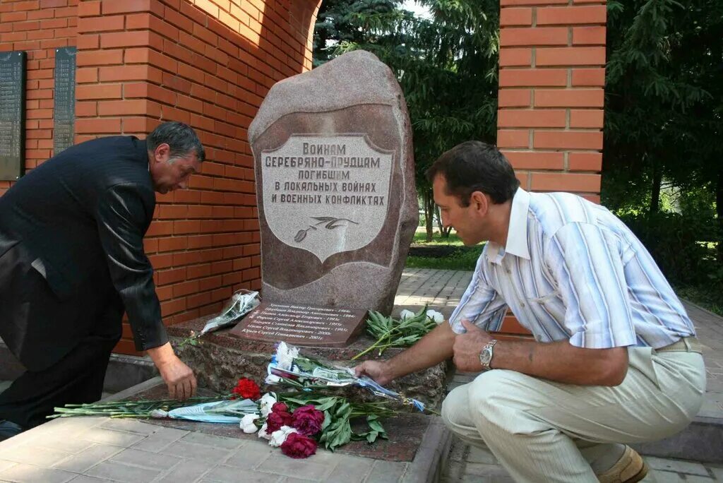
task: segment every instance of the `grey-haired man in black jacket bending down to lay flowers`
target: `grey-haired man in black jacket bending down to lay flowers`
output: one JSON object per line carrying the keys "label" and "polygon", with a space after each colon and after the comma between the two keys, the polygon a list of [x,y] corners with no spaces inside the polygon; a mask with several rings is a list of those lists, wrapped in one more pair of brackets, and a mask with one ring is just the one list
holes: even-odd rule
{"label": "grey-haired man in black jacket bending down to lay flowers", "polygon": [[171,397],[195,393],[168,343],[143,236],[154,191],[185,188],[203,158],[193,129],[167,122],[146,140],[68,148],[0,197],[0,337],[27,369],[0,394],[0,440],[55,406],[100,398],[124,311]]}

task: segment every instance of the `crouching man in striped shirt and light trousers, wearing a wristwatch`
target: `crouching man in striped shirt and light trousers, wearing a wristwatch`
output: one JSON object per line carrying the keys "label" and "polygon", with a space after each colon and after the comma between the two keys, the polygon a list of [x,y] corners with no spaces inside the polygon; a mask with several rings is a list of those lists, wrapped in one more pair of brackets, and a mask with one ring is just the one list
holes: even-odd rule
{"label": "crouching man in striped shirt and light trousers, wearing a wristwatch", "polygon": [[[683,429],[706,384],[693,325],[649,252],[602,206],[520,189],[483,142],[442,154],[427,176],[442,223],[489,243],[449,324],[357,374],[385,384],[453,357],[482,373],[445,399],[445,424],[516,481],[643,479],[624,443]],[[489,334],[508,308],[534,341]]]}

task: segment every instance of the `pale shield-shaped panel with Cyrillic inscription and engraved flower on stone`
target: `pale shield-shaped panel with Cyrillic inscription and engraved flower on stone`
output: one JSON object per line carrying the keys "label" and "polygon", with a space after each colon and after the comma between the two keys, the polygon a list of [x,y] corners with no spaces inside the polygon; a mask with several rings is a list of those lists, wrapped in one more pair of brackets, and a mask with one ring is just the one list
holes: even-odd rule
{"label": "pale shield-shaped panel with Cyrillic inscription and engraved flower on stone", "polygon": [[365,247],[384,226],[393,152],[364,134],[295,134],[261,156],[264,214],[282,242],[323,262]]}

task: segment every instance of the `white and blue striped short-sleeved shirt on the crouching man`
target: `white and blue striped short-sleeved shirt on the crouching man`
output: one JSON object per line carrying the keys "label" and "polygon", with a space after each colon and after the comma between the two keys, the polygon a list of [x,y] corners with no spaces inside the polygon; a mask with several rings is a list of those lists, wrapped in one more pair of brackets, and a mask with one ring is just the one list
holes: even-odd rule
{"label": "white and blue striped short-sleeved shirt on the crouching man", "polygon": [[489,242],[450,317],[500,330],[508,307],[538,342],[660,348],[695,335],[664,275],[625,223],[570,193],[518,189],[507,245]]}

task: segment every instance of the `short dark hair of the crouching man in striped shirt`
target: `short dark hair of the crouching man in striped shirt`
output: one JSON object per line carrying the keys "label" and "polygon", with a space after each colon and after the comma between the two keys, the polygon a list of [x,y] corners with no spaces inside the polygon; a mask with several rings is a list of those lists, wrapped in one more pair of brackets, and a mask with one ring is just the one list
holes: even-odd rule
{"label": "short dark hair of the crouching man in striped shirt", "polygon": [[442,153],[427,169],[430,183],[437,175],[444,176],[447,194],[458,197],[462,206],[469,206],[469,197],[476,191],[489,195],[495,204],[504,203],[520,186],[507,158],[482,141],[463,142]]}

